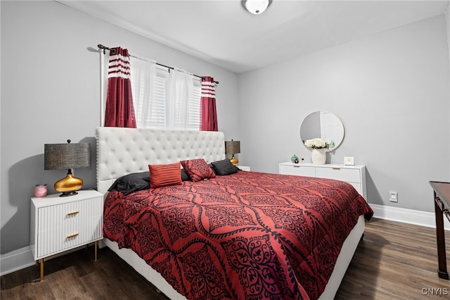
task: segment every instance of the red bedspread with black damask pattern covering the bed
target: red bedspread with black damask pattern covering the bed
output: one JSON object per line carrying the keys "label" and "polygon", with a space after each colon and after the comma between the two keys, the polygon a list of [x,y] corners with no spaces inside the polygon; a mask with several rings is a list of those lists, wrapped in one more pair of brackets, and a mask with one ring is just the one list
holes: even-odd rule
{"label": "red bedspread with black damask pattern covering the bed", "polygon": [[105,237],[188,299],[317,299],[359,215],[346,182],[239,171],[105,201]]}

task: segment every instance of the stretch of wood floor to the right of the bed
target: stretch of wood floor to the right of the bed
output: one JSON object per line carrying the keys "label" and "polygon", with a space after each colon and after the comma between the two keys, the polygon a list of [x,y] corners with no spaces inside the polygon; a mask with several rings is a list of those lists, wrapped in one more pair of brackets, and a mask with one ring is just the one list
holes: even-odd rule
{"label": "stretch of wood floor to the right of the bed", "polygon": [[[450,232],[446,242],[450,257]],[[380,219],[366,223],[335,299],[450,299],[450,281],[437,276],[436,230]]]}

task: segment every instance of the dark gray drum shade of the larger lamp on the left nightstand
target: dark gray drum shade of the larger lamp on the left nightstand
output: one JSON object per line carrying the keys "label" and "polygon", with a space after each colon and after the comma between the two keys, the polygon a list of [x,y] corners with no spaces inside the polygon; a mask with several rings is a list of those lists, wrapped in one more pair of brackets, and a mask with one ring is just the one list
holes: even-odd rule
{"label": "dark gray drum shade of the larger lamp on the left nightstand", "polygon": [[44,170],[84,168],[91,165],[91,144],[44,144]]}

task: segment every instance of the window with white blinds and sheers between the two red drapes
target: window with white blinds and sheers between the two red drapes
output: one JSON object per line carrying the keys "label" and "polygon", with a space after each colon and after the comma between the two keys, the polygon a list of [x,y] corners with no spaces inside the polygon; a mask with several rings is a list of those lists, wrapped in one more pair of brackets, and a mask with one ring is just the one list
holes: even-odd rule
{"label": "window with white blinds and sheers between the two red drapes", "polygon": [[199,77],[141,58],[130,64],[138,128],[200,130]]}

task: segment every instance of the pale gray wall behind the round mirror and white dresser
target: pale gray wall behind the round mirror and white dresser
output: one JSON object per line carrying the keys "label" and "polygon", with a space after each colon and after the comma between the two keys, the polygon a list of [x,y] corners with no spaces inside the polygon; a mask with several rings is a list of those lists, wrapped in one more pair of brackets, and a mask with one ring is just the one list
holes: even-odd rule
{"label": "pale gray wall behind the round mirror and white dresser", "polygon": [[300,123],[323,110],[345,126],[328,162],[366,165],[369,203],[432,211],[428,181],[450,180],[444,15],[241,74],[239,85],[240,161],[252,170],[278,172],[293,154],[310,161]]}

